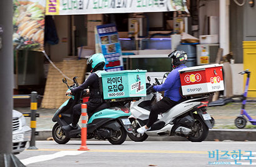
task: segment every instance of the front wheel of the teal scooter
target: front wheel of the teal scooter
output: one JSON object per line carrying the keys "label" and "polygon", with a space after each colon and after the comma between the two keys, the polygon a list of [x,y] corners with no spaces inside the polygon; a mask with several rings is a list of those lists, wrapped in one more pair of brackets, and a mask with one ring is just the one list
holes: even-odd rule
{"label": "front wheel of the teal scooter", "polygon": [[67,138],[61,126],[56,123],[52,128],[52,137],[54,141],[58,144],[66,144],[69,142],[70,138]]}

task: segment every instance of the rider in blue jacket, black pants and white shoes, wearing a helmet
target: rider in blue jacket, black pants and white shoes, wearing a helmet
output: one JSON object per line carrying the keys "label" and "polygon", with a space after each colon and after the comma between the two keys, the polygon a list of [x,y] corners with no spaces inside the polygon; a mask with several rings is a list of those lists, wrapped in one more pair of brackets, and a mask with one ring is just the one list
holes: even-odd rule
{"label": "rider in blue jacket, black pants and white shoes, wearing a helmet", "polygon": [[150,130],[151,125],[157,120],[158,114],[168,111],[182,99],[179,91],[181,86],[179,70],[187,67],[184,65],[187,61],[187,53],[182,50],[175,50],[168,56],[169,58],[172,58],[172,66],[174,70],[168,74],[164,84],[152,84],[152,86],[150,86],[151,88],[149,88],[151,89],[151,92],[164,91],[164,98],[152,106],[147,124],[137,129],[137,132],[139,133],[144,133],[147,130]]}

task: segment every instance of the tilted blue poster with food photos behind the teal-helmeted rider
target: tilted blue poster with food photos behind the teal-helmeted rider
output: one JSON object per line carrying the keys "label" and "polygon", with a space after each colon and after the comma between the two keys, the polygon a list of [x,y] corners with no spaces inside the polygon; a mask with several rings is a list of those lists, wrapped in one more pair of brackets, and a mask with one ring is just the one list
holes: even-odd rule
{"label": "tilted blue poster with food photos behind the teal-helmeted rider", "polygon": [[116,25],[97,25],[97,41],[100,43],[101,51],[106,59],[106,71],[124,70]]}

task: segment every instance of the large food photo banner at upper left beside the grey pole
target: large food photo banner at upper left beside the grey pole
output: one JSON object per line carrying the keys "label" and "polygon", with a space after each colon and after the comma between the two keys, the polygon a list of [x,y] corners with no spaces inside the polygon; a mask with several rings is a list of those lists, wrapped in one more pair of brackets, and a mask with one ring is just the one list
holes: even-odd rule
{"label": "large food photo banner at upper left beside the grey pole", "polygon": [[44,50],[44,0],[13,1],[13,45],[16,50]]}

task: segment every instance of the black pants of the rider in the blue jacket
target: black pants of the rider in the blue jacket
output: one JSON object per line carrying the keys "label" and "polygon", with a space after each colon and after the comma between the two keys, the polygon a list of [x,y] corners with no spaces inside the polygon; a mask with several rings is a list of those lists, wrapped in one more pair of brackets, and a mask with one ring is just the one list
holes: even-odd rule
{"label": "black pants of the rider in the blue jacket", "polygon": [[151,127],[152,124],[154,124],[157,120],[158,114],[168,111],[177,103],[177,101],[172,101],[169,97],[164,97],[159,102],[155,103],[151,108],[149,120],[147,120],[147,127]]}

